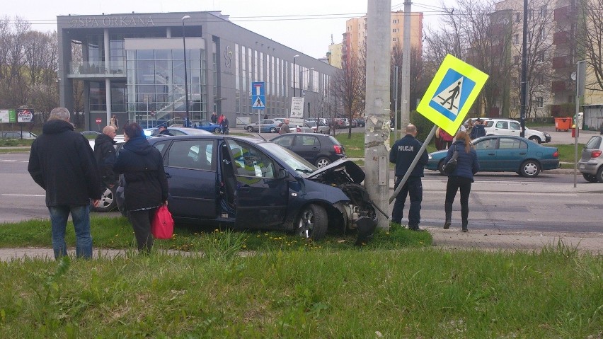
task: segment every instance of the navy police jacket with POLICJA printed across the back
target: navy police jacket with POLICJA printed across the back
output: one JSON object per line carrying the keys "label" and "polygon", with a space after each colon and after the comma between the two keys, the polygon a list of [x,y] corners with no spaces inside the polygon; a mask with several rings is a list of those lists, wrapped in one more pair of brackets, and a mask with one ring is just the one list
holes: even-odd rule
{"label": "navy police jacket with POLICJA printed across the back", "polygon": [[[408,168],[410,167],[410,163],[415,159],[421,145],[423,144],[415,139],[415,137],[406,134],[405,137],[396,141],[394,146],[391,146],[391,151],[389,151],[389,162],[396,164],[396,176],[404,176],[406,174],[406,171],[408,171]],[[417,166],[415,166],[410,173],[410,176],[422,177],[423,166],[427,165],[427,160],[429,160],[427,151],[423,151]]]}

